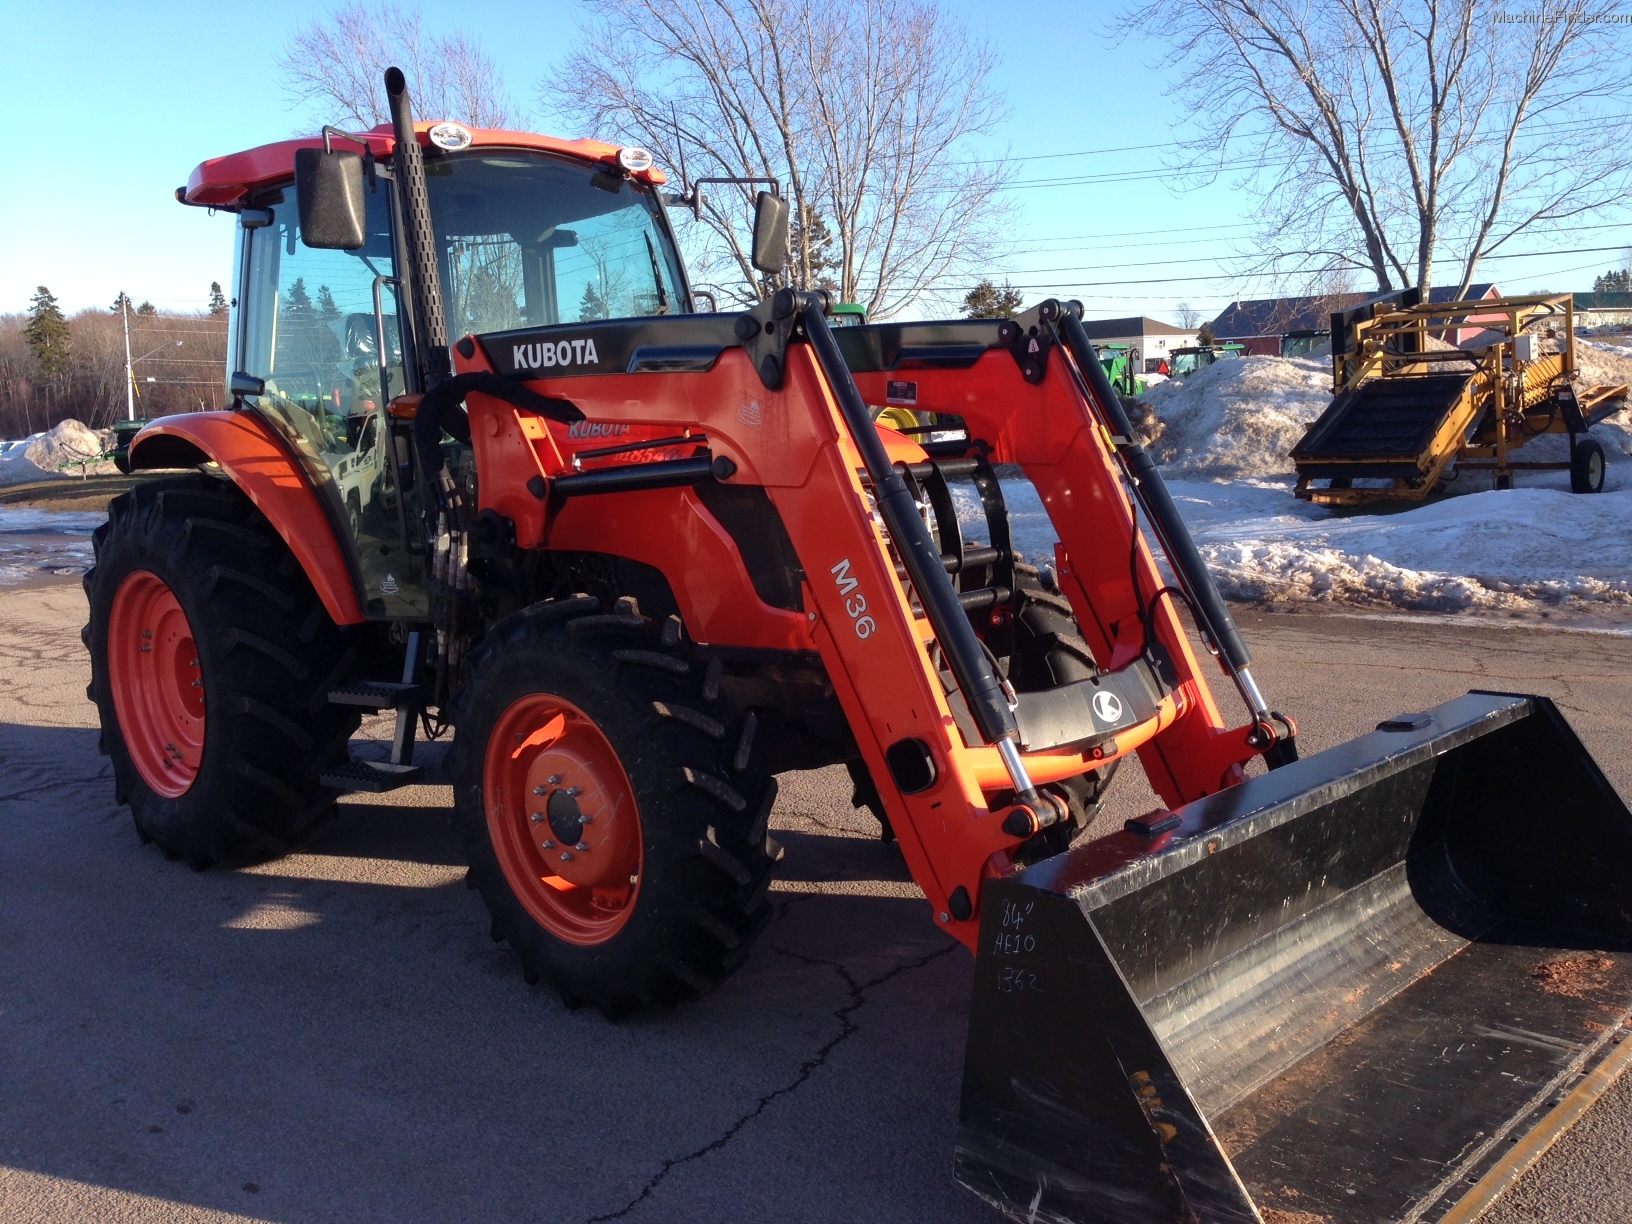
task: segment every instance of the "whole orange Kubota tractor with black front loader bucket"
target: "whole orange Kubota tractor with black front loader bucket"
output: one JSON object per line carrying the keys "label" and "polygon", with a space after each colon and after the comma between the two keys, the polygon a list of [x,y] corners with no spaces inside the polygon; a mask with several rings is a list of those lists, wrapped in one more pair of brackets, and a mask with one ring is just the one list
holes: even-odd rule
{"label": "whole orange Kubota tractor with black front loader bucket", "polygon": [[[619,1013],[743,961],[775,774],[844,764],[978,956],[956,1177],[1018,1219],[1469,1219],[1619,1074],[1616,792],[1508,694],[1299,761],[1079,307],[698,313],[646,152],[385,82],[392,124],[178,193],[237,215],[235,403],[142,431],[199,470],[119,498],[85,581],[144,839],[282,854],[450,726],[494,935]],[[774,193],[754,237],[775,274]],[[902,401],[935,441],[875,424]],[[1128,757],[1165,806],[1077,839]]]}

